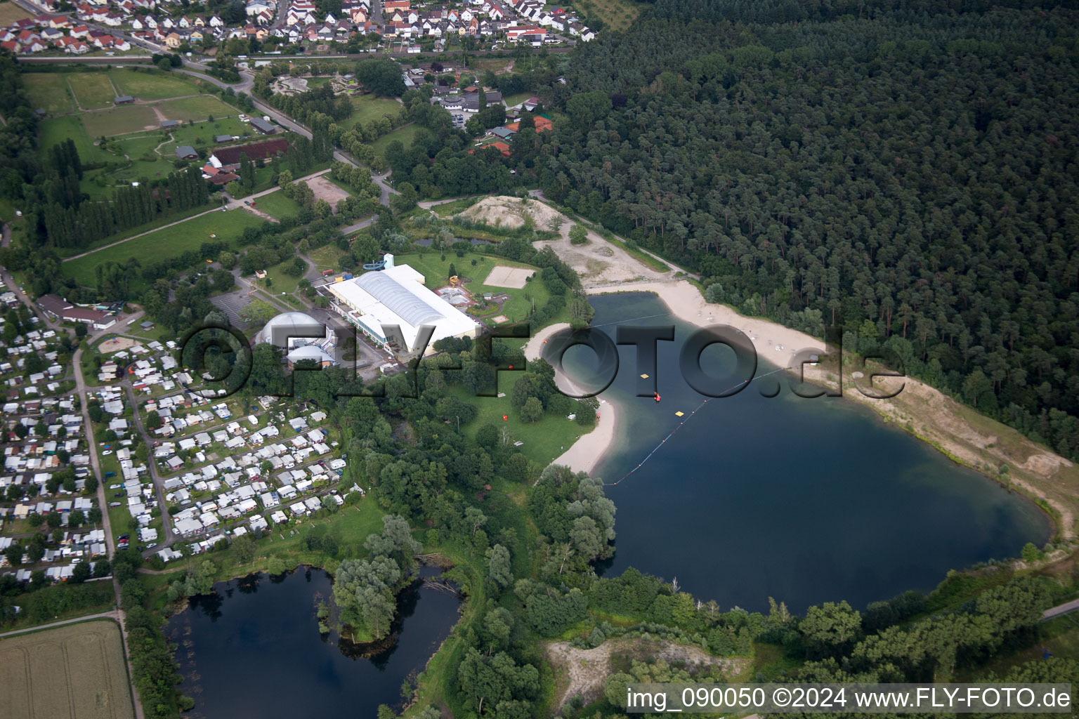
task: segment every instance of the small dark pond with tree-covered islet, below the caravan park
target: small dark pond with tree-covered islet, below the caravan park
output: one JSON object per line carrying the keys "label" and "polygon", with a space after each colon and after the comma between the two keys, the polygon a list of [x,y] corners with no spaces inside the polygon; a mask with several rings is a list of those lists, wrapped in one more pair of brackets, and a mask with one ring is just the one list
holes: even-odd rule
{"label": "small dark pond with tree-covered islet, below the caravan park", "polygon": [[456,623],[460,605],[449,592],[419,584],[405,590],[396,640],[363,656],[357,645],[318,633],[316,604],[332,597],[322,569],[250,575],[214,589],[166,627],[179,646],[180,690],[195,700],[183,715],[192,719],[373,717],[380,704],[401,703],[401,682],[423,670]]}

